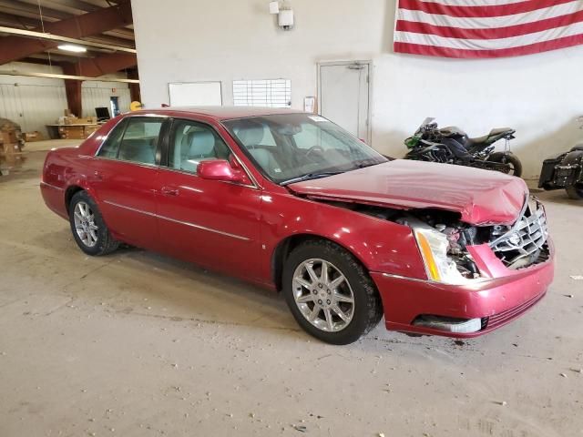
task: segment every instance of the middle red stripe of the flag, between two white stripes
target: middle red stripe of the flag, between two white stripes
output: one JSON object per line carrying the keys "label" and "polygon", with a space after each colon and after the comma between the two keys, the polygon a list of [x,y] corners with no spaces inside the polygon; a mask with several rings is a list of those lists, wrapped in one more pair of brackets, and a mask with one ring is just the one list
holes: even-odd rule
{"label": "middle red stripe of the flag, between two white stripes", "polygon": [[430,34],[458,39],[500,39],[512,36],[533,34],[556,27],[564,27],[581,22],[583,22],[583,11],[579,11],[576,14],[561,15],[554,18],[548,18],[547,20],[539,20],[523,25],[509,25],[506,27],[486,29],[465,29],[459,27],[429,25],[426,23],[399,20],[396,25],[396,30],[400,32]]}

